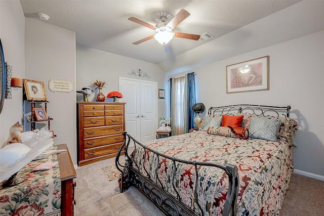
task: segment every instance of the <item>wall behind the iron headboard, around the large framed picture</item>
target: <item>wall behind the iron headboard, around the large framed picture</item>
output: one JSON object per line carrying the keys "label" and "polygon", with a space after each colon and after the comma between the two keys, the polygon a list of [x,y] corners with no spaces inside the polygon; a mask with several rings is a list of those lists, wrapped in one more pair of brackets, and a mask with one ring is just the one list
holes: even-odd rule
{"label": "wall behind the iron headboard, around the large framed picture", "polygon": [[[324,176],[324,31],[195,68],[198,102],[291,105],[298,121],[293,148],[295,169]],[[270,90],[226,94],[226,65],[269,55]],[[170,75],[178,77],[184,73]]]}

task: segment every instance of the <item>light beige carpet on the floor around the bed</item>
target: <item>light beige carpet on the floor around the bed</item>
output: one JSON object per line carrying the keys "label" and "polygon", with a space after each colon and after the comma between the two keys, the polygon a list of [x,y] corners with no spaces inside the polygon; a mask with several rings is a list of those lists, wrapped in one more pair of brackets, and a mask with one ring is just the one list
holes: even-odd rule
{"label": "light beige carpet on the floor around the bed", "polygon": [[[121,157],[123,160],[124,157]],[[76,169],[75,216],[164,215],[138,189],[120,193],[118,181],[109,181],[101,169],[115,158]],[[324,181],[293,174],[280,216],[324,216]]]}

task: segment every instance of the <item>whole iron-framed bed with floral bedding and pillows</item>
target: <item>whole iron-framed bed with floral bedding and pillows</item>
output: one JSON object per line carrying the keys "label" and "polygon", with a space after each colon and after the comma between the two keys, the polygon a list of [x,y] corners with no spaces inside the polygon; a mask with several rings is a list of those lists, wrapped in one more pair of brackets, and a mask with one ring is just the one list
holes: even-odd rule
{"label": "whole iron-framed bed with floral bedding and pillows", "polygon": [[135,186],[168,215],[278,215],[293,171],[290,109],[210,107],[197,132],[143,144],[123,132],[120,191]]}

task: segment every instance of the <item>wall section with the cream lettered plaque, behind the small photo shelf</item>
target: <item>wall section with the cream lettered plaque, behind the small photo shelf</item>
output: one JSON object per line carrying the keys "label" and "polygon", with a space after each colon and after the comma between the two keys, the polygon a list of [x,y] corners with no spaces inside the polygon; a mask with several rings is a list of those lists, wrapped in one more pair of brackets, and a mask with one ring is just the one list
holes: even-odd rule
{"label": "wall section with the cream lettered plaque, behind the small photo shelf", "polygon": [[[25,77],[44,81],[50,102],[47,113],[54,119],[51,129],[57,135],[54,144],[65,143],[76,164],[75,32],[31,18],[25,20]],[[50,79],[72,81],[73,91],[51,92]]]}

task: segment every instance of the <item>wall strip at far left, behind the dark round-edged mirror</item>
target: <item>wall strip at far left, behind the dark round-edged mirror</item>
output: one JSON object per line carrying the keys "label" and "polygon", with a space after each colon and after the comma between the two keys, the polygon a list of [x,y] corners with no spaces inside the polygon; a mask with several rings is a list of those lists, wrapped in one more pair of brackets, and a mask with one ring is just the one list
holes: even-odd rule
{"label": "wall strip at far left, behind the dark round-edged mirror", "polygon": [[[0,38],[5,61],[12,66],[12,76],[25,76],[25,16],[19,1],[0,1]],[[0,115],[0,146],[15,122],[22,123],[22,89],[12,90],[12,100],[5,99]]]}

